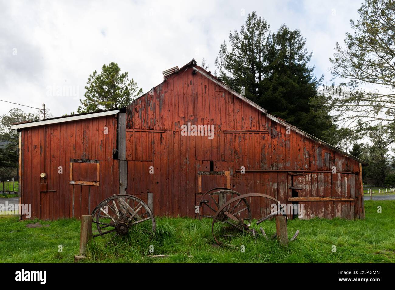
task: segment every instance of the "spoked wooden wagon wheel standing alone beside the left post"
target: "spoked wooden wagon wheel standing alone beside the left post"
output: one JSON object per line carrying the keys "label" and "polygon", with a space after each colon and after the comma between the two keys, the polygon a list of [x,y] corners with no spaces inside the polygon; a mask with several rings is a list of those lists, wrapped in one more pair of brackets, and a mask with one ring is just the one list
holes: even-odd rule
{"label": "spoked wooden wagon wheel standing alone beside the left post", "polygon": [[98,234],[94,238],[110,234],[111,239],[126,235],[132,228],[146,228],[155,232],[155,218],[149,206],[134,195],[113,195],[96,206],[92,211],[93,223]]}

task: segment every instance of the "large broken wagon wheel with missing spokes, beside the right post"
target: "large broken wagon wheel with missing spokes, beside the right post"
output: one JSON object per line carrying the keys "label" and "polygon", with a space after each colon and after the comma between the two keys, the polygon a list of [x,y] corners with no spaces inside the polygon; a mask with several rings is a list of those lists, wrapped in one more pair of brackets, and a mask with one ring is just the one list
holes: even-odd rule
{"label": "large broken wagon wheel with missing spokes, beside the right post", "polygon": [[[263,198],[269,198],[273,200],[277,205],[278,205],[278,211],[275,213],[271,213],[267,215],[267,217],[263,217],[260,219],[257,223],[261,223],[262,221],[269,219],[270,217],[280,214],[280,202],[276,200],[273,196],[270,195],[265,195],[262,193],[248,193],[245,195],[239,195],[234,198],[231,198],[227,202],[225,202],[216,212],[216,214],[213,217],[213,223],[211,224],[211,231],[213,232],[213,237],[215,241],[217,242],[218,245],[220,245],[220,242],[217,239],[217,236],[214,232],[214,224],[216,222],[221,222],[222,224],[227,224],[232,226],[235,230],[239,230],[244,232],[245,230],[249,230],[249,226],[251,219],[248,221],[248,223],[245,223],[247,219],[243,219],[240,217],[240,213],[246,210],[244,209],[239,209],[238,205],[240,200],[246,200],[248,197],[263,197]],[[236,207],[235,207],[236,206]]]}

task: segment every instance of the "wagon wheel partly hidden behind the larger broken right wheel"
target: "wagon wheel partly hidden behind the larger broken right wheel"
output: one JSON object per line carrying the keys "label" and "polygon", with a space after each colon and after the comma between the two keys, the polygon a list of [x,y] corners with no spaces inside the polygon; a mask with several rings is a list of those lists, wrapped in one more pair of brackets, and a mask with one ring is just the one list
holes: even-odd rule
{"label": "wagon wheel partly hidden behind the larger broken right wheel", "polygon": [[[213,218],[215,213],[222,206],[222,204],[226,202],[226,200],[231,200],[233,197],[240,195],[241,194],[238,193],[237,191],[231,190],[226,187],[216,187],[210,189],[200,199],[199,208],[201,208],[201,210],[199,209],[199,219],[202,217]],[[252,215],[251,215],[250,205],[248,204],[247,200],[243,198],[239,201],[239,203],[240,204],[237,204],[235,208],[239,208],[239,206],[245,206],[247,210],[245,219],[251,220]],[[230,206],[228,209],[225,210],[229,211],[229,209]],[[201,214],[201,211],[203,211],[203,214]],[[223,219],[222,215],[220,219]]]}

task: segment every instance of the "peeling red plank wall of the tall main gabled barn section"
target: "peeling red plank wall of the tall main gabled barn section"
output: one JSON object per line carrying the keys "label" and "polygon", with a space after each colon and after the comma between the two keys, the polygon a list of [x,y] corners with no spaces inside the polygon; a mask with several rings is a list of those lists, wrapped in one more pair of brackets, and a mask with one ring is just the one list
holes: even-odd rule
{"label": "peeling red plank wall of the tall main gabled barn section", "polygon": [[[199,69],[201,69],[199,67]],[[355,197],[350,201],[305,201],[304,218],[363,218],[359,163],[266,117],[265,113],[231,94],[210,79],[181,69],[127,107],[128,193],[153,192],[156,215],[196,217],[198,171],[230,171],[232,189],[271,195],[282,203],[292,196]],[[181,136],[181,126],[214,125],[215,137]],[[132,130],[139,130],[132,131]],[[267,130],[265,132],[265,130]],[[141,132],[144,131],[144,132]],[[232,133],[231,131],[237,131]],[[256,132],[251,132],[256,131]],[[245,133],[241,133],[245,132]],[[154,174],[149,174],[149,166]],[[327,170],[352,174],[236,172],[254,169]],[[134,168],[134,169],[133,169]],[[137,176],[136,176],[136,172]],[[150,180],[152,182],[146,182]],[[134,186],[130,186],[134,182]],[[226,186],[221,176],[202,178],[202,192]],[[254,217],[267,215],[265,200],[248,200]],[[354,209],[355,204],[355,209]],[[291,216],[289,216],[291,217]]]}

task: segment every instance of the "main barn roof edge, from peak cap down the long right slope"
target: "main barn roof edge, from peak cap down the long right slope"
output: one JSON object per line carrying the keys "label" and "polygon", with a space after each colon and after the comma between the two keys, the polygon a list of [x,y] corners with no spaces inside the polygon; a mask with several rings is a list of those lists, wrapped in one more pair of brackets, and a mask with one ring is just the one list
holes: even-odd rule
{"label": "main barn roof edge, from peak cap down the long right slope", "polygon": [[[173,73],[173,74],[177,74],[180,71],[185,71],[187,68],[192,67],[195,71],[197,71],[198,73],[200,73],[201,75],[205,76],[207,79],[210,79],[211,81],[213,81],[214,83],[218,84],[218,86],[221,86],[222,88],[224,88],[225,90],[227,90],[228,92],[230,92],[231,94],[235,95],[236,97],[238,97],[239,99],[245,101],[246,103],[248,103],[249,105],[251,105],[252,107],[260,110],[261,112],[263,112],[267,118],[269,118],[270,120],[273,120],[274,122],[277,122],[285,127],[290,127],[290,129],[292,129],[293,131],[323,145],[326,147],[329,147],[330,149],[332,149],[333,151],[336,151],[344,156],[347,156],[355,161],[358,161],[359,163],[361,163],[363,166],[368,166],[369,163],[367,163],[366,161],[363,161],[362,159],[359,159],[358,157],[355,157],[347,152],[344,152],[343,150],[340,150],[339,148],[325,142],[322,141],[320,139],[318,139],[317,137],[314,137],[313,135],[310,135],[308,133],[306,133],[305,131],[291,125],[290,123],[285,122],[284,120],[281,120],[280,118],[276,118],[275,116],[269,114],[267,112],[267,110],[263,109],[261,106],[257,105],[256,103],[254,103],[253,101],[251,101],[250,99],[247,99],[245,96],[239,94],[238,92],[236,92],[235,90],[233,90],[232,88],[230,88],[228,85],[224,84],[220,79],[218,79],[217,77],[214,77],[213,75],[211,75],[211,73],[209,73],[208,71],[206,71],[205,69],[203,69],[202,67],[199,67],[198,65],[196,65],[196,60],[192,59],[188,64],[184,65],[179,71]],[[167,76],[167,78],[169,78],[170,76]]]}

